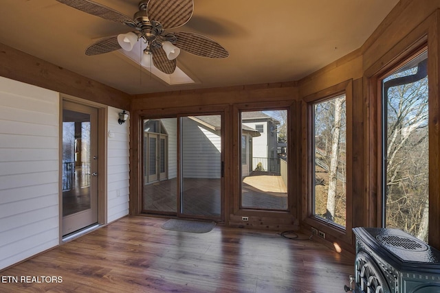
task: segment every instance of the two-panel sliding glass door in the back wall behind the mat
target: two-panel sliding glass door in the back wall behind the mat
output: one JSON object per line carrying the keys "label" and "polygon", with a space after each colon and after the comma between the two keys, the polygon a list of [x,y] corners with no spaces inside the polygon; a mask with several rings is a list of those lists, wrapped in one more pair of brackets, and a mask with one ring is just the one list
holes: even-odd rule
{"label": "two-panel sliding glass door in the back wall behind the mat", "polygon": [[144,213],[221,218],[221,115],[143,120]]}

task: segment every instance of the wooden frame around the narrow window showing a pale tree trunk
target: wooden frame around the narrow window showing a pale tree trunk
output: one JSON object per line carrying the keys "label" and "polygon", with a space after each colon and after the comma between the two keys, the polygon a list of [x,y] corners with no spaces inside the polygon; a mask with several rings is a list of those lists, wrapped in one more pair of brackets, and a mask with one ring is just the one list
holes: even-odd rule
{"label": "wooden frame around the narrow window showing a pale tree trunk", "polygon": [[[346,124],[347,124],[347,185],[346,185],[346,224],[342,226],[329,222],[323,218],[314,215],[314,105],[318,102],[325,102],[333,97],[345,95],[346,106]],[[322,91],[318,91],[303,98],[303,129],[305,141],[303,148],[303,165],[305,166],[305,196],[301,207],[303,223],[309,227],[313,227],[327,234],[326,238],[330,240],[342,239],[342,241],[353,244],[352,231],[353,228],[353,80],[347,80],[336,84]]]}

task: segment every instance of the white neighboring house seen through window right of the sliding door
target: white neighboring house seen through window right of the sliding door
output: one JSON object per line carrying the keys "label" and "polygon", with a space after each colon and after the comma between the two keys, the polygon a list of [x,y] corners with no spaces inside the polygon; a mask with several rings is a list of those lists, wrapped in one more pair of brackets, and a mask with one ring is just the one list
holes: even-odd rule
{"label": "white neighboring house seen through window right of the sliding door", "polygon": [[[242,112],[243,126],[248,126],[260,132],[260,136],[252,137],[252,165],[250,172],[255,169],[260,171],[276,171],[277,163],[277,129],[280,121],[266,115],[261,111]],[[242,140],[244,137],[242,137]],[[244,168],[243,168],[244,172]]]}

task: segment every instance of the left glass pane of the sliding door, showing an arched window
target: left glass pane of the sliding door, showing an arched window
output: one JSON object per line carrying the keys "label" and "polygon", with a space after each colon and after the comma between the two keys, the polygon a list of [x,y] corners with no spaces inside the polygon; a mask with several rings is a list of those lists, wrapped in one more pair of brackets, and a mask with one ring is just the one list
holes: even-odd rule
{"label": "left glass pane of the sliding door, showing an arched window", "polygon": [[[159,135],[161,139],[157,146]],[[143,210],[176,213],[177,118],[144,119],[143,149]],[[159,167],[156,165],[157,160]]]}

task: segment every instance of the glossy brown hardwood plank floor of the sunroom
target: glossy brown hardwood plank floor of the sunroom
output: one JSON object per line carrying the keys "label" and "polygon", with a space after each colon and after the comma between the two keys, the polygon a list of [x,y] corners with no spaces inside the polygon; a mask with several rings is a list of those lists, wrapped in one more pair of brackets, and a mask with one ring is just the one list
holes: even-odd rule
{"label": "glossy brown hardwood plank floor of the sunroom", "polygon": [[2,280],[61,283],[1,282],[0,292],[332,293],[344,292],[353,274],[353,259],[313,239],[225,226],[181,233],[162,229],[164,222],[122,218],[0,272]]}

